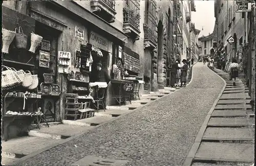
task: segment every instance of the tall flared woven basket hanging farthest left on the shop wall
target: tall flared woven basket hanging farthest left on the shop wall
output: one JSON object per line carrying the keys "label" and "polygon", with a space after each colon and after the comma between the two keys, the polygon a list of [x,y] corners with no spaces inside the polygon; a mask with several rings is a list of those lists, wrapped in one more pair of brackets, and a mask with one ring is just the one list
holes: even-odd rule
{"label": "tall flared woven basket hanging farthest left on the shop wall", "polygon": [[15,37],[16,32],[2,29],[2,53],[9,53],[9,46]]}

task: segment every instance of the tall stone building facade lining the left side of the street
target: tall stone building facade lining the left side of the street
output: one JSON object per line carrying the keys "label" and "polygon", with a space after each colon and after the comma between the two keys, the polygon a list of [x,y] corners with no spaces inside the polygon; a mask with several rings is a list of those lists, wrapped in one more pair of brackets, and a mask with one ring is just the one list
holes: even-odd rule
{"label": "tall stone building facade lining the left side of the street", "polygon": [[[71,53],[73,73],[91,77],[95,63],[101,62],[112,79],[122,79],[124,70],[142,78],[145,84],[141,85],[140,94],[157,91],[167,86],[170,60],[177,55],[182,58],[183,34],[186,33],[186,40],[189,38],[182,30],[183,20],[189,22],[184,9],[189,11],[188,2],[183,8],[181,1],[4,1],[2,27],[8,30],[23,27],[27,36],[32,32],[42,36],[50,43],[51,55],[49,69],[38,65],[37,55],[33,60],[22,55],[15,63],[5,61],[8,62],[5,65],[29,61],[31,65],[20,68],[33,70],[40,77],[39,85],[44,82],[44,73],[53,76],[54,83],[61,87],[59,99],[54,99],[53,111],[54,121],[59,122],[65,116],[64,99],[70,86],[69,74],[63,74],[64,69],[58,64],[59,51]],[[189,28],[188,24],[185,27]],[[187,41],[186,45],[187,48]],[[83,56],[80,66],[76,64],[76,52],[86,54],[84,50],[93,47],[101,51],[102,58],[93,60],[95,63],[89,72]],[[119,67],[120,73],[114,74],[113,65]],[[107,105],[114,103],[112,88],[110,84]]]}

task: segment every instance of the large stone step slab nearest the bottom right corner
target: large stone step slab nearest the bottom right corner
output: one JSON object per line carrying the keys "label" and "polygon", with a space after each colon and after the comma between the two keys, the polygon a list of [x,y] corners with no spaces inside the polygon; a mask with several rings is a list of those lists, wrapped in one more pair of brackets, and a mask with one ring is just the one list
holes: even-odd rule
{"label": "large stone step slab nearest the bottom right corner", "polygon": [[194,160],[254,161],[254,144],[202,142]]}

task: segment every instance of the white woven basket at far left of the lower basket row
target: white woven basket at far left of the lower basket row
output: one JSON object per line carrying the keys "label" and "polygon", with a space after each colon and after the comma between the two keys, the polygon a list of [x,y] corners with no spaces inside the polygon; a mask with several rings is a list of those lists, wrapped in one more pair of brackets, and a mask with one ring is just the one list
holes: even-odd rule
{"label": "white woven basket at far left of the lower basket row", "polygon": [[19,79],[17,73],[12,70],[10,67],[2,66],[2,90],[12,89],[16,86],[22,84],[22,81]]}

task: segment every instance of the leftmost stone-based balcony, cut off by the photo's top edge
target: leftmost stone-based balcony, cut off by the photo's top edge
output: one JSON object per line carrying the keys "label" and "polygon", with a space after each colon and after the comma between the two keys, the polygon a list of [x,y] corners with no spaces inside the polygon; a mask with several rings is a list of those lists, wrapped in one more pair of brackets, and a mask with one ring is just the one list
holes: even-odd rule
{"label": "leftmost stone-based balcony, cut off by the photo's top edge", "polygon": [[115,22],[115,0],[91,0],[92,12],[108,21]]}

